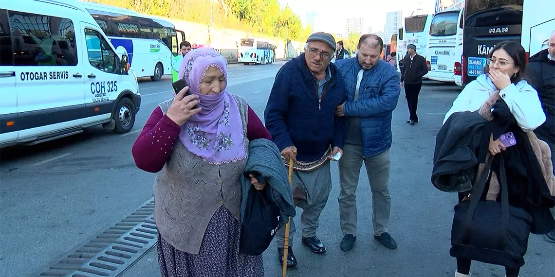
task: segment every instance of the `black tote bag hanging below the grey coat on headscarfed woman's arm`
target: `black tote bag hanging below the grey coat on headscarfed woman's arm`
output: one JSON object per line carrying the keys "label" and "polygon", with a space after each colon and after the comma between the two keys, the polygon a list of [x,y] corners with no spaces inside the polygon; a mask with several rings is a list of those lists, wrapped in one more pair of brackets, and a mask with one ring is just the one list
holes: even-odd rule
{"label": "black tote bag hanging below the grey coat on headscarfed woman's arm", "polygon": [[280,209],[270,200],[268,189],[271,189],[268,185],[262,191],[253,186],[249,189],[239,240],[239,251],[243,254],[262,254],[279,228]]}

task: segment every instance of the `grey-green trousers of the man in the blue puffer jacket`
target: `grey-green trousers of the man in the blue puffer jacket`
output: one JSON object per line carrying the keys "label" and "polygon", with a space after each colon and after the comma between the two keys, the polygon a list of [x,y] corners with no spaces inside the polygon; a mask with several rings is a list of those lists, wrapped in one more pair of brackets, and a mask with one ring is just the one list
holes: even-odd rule
{"label": "grey-green trousers of the man in the blue puffer jacket", "polygon": [[[372,226],[374,235],[388,232],[391,196],[389,195],[389,177],[391,169],[390,149],[377,155],[364,158],[362,145],[346,144],[343,156],[339,160],[339,178],[341,192],[339,201],[339,220],[341,232],[356,236],[356,188],[359,184],[362,162],[366,166],[370,189],[372,191]],[[366,214],[366,213],[365,213]]]}

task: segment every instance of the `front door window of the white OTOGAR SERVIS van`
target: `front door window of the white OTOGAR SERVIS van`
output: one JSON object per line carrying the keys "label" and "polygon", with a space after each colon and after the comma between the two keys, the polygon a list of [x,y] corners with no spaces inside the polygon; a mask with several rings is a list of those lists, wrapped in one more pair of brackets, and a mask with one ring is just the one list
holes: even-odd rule
{"label": "front door window of the white OTOGAR SERVIS van", "polygon": [[85,29],[85,40],[90,65],[107,73],[117,73],[117,55],[102,35],[95,30]]}

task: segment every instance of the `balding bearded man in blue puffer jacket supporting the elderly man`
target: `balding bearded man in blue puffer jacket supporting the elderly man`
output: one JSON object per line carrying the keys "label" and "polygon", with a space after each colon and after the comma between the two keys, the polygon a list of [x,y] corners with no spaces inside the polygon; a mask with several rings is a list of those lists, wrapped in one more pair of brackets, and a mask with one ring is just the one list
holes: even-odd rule
{"label": "balding bearded man in blue puffer jacket supporting the elderly man", "polygon": [[336,114],[347,119],[344,155],[339,161],[341,193],[339,214],[341,249],[349,251],[356,241],[356,199],[360,168],[364,161],[372,190],[374,238],[385,247],[397,248],[387,230],[390,218],[391,117],[399,98],[400,77],[391,64],[380,59],[384,42],[374,34],[359,40],[357,57],[337,61],[347,101]]}

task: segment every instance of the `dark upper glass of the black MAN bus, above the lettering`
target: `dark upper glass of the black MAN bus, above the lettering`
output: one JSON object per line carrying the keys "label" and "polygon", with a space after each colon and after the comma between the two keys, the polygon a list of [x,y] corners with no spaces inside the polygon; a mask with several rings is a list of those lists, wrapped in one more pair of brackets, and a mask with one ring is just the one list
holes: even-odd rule
{"label": "dark upper glass of the black MAN bus, above the lettering", "polygon": [[497,27],[522,24],[524,0],[466,1],[465,27]]}

